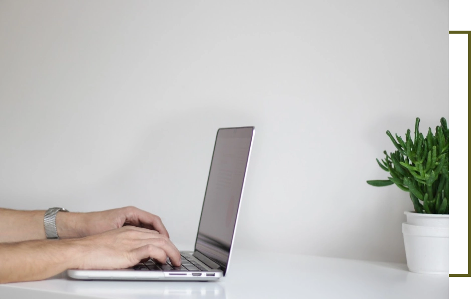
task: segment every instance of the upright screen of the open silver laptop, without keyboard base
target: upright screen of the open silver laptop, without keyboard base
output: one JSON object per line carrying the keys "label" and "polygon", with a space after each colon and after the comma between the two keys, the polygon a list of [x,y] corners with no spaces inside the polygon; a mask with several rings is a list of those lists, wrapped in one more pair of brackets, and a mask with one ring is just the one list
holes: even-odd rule
{"label": "upright screen of the open silver laptop, without keyboard base", "polygon": [[229,260],[254,128],[217,131],[195,249],[224,268]]}

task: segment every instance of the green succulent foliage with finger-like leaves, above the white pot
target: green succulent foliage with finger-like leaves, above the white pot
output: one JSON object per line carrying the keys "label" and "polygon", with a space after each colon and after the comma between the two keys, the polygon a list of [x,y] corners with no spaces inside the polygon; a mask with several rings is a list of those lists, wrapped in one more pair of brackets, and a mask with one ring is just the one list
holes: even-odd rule
{"label": "green succulent foliage with finger-like leaves, above the white pot", "polygon": [[424,136],[419,132],[420,119],[415,120],[414,138],[408,129],[405,141],[387,131],[396,151],[380,160],[381,169],[390,173],[387,180],[369,180],[373,186],[396,184],[409,192],[416,213],[448,214],[450,210],[450,129],[444,118],[440,126],[428,128]]}

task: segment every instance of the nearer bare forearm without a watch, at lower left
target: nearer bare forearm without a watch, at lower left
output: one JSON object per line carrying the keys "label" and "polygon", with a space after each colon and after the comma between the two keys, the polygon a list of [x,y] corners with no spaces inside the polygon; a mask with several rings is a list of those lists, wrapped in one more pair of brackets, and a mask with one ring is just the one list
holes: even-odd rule
{"label": "nearer bare forearm without a watch, at lower left", "polygon": [[42,280],[75,268],[78,246],[75,239],[0,244],[0,283]]}

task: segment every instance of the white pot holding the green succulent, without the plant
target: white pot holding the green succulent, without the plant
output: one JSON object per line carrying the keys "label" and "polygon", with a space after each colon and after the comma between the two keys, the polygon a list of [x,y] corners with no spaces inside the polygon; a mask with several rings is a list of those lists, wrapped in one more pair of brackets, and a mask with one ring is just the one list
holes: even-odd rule
{"label": "white pot holding the green succulent, without the plant", "polygon": [[450,273],[450,219],[448,215],[405,212],[402,224],[409,271],[422,274]]}

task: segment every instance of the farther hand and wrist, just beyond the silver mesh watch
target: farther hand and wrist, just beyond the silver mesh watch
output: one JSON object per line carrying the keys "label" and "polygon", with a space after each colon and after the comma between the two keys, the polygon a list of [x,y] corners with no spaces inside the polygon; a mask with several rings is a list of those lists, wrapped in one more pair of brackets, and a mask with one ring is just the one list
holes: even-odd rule
{"label": "farther hand and wrist, just beyond the silver mesh watch", "polygon": [[125,225],[157,231],[170,238],[159,216],[136,207],[125,207],[89,213],[59,212],[56,216],[60,238],[83,238],[121,228]]}

